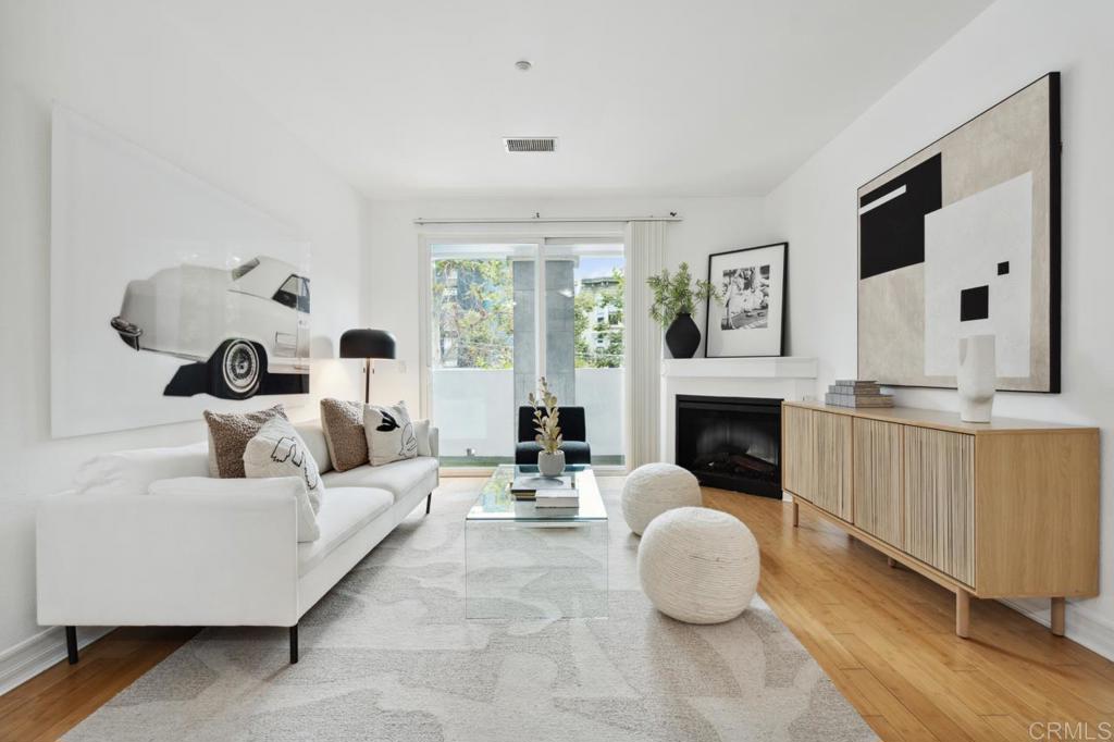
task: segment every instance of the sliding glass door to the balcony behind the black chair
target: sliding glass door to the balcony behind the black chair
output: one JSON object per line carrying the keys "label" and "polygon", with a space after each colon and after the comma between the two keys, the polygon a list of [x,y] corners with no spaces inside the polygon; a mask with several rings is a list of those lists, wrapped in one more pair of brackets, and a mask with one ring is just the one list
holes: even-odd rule
{"label": "sliding glass door to the balcony behind the black chair", "polygon": [[517,409],[545,375],[585,408],[593,463],[622,465],[623,246],[430,245],[430,417],[446,467],[514,461]]}

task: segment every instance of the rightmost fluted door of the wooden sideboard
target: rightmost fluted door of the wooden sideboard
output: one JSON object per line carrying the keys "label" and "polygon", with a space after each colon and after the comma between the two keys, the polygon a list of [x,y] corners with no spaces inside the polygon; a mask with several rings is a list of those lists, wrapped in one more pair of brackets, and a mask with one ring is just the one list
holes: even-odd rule
{"label": "rightmost fluted door of the wooden sideboard", "polygon": [[906,553],[975,584],[975,437],[906,427]]}

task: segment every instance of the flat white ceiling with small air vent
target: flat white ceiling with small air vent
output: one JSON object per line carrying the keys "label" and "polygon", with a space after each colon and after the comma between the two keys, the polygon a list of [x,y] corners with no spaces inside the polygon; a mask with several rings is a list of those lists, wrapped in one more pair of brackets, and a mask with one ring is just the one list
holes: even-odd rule
{"label": "flat white ceiling with small air vent", "polygon": [[[380,198],[763,195],[989,4],[164,2]],[[558,153],[502,149],[535,135],[558,136]]]}

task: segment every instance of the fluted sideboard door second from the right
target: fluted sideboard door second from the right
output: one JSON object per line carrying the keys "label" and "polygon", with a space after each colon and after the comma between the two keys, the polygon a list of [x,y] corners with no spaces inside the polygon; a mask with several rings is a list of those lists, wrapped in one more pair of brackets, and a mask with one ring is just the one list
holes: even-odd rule
{"label": "fluted sideboard door second from the right", "polygon": [[854,525],[902,548],[901,428],[858,418],[854,424]]}

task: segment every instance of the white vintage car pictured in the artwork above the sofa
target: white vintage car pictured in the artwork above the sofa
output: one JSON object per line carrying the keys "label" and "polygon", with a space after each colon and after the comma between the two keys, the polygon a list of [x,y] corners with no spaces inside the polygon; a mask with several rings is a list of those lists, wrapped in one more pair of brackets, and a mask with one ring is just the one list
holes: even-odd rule
{"label": "white vintage car pictured in the artwork above the sofa", "polygon": [[310,280],[265,255],[231,270],[179,265],[131,281],[110,324],[137,351],[204,363],[207,388],[192,393],[246,399],[270,374],[309,379]]}

